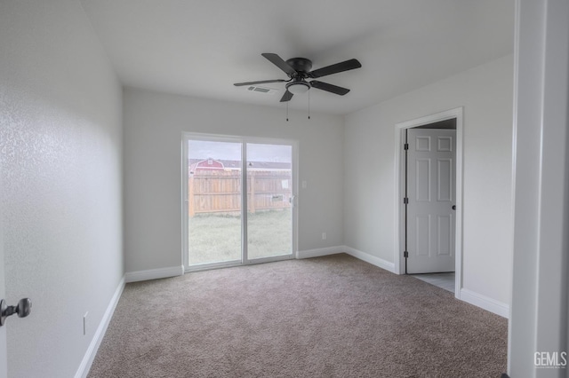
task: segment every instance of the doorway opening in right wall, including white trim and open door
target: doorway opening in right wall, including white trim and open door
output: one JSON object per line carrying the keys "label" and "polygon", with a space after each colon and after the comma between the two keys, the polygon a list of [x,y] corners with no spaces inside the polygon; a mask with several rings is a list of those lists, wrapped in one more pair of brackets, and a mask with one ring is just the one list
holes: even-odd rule
{"label": "doorway opening in right wall, including white trim and open door", "polygon": [[396,129],[396,271],[460,298],[462,108]]}

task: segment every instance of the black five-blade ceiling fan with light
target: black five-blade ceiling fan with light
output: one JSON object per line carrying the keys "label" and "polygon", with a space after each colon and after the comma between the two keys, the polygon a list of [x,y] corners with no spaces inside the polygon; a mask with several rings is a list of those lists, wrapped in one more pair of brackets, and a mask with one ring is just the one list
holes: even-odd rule
{"label": "black five-blade ceiling fan with light", "polygon": [[293,95],[305,93],[306,91],[309,91],[310,88],[317,88],[318,90],[329,91],[343,96],[349,92],[349,89],[329,83],[318,82],[317,80],[307,82],[306,79],[317,79],[318,77],[338,74],[339,72],[362,67],[361,63],[357,61],[357,59],[349,59],[331,66],[310,71],[312,68],[312,62],[306,58],[293,58],[284,61],[281,57],[273,53],[264,52],[260,55],[267,58],[276,67],[282,69],[284,73],[288,75],[289,80],[261,80],[258,82],[235,83],[234,85],[236,87],[240,87],[254,84],[286,83],[286,91],[281,98],[281,102],[290,101],[291,98],[293,98]]}

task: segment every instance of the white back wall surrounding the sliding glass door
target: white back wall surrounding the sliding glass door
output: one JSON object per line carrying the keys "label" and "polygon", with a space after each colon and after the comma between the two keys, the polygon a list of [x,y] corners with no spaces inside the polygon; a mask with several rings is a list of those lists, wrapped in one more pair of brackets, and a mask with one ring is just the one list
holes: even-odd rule
{"label": "white back wall surrounding the sliding glass door", "polygon": [[181,266],[180,142],[184,131],[298,140],[299,178],[308,184],[298,195],[299,250],[341,246],[343,118],[312,114],[309,120],[306,112],[291,112],[286,122],[285,115],[284,105],[247,106],[125,89],[126,272]]}

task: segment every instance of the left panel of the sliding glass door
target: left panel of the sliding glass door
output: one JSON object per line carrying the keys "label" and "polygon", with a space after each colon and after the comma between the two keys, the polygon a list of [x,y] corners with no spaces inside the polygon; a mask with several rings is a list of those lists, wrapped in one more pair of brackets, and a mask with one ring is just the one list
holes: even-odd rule
{"label": "left panel of the sliding glass door", "polygon": [[188,140],[188,265],[241,262],[241,144]]}

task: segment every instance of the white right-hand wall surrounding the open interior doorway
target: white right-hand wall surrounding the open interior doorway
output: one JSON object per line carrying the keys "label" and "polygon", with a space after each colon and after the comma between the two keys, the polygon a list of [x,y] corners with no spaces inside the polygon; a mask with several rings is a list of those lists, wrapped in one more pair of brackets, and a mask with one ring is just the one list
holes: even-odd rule
{"label": "white right-hand wall surrounding the open interior doorway", "polygon": [[507,56],[346,116],[345,244],[394,263],[396,124],[463,106],[462,287],[507,311],[512,98]]}

